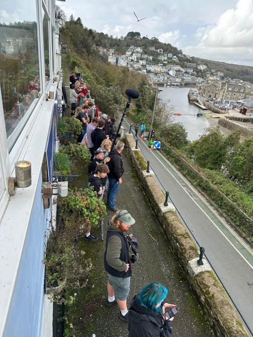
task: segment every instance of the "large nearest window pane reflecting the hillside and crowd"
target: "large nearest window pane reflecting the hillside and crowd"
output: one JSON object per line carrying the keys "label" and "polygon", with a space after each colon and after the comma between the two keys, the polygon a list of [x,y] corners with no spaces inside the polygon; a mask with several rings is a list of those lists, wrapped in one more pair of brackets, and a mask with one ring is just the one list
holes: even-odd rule
{"label": "large nearest window pane reflecting the hillside and crowd", "polygon": [[0,83],[10,150],[40,91],[37,19],[33,0],[26,0],[25,7],[15,4],[15,14],[10,3],[4,1],[1,7]]}

